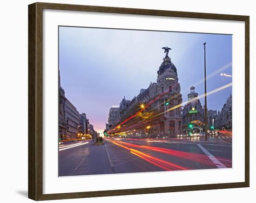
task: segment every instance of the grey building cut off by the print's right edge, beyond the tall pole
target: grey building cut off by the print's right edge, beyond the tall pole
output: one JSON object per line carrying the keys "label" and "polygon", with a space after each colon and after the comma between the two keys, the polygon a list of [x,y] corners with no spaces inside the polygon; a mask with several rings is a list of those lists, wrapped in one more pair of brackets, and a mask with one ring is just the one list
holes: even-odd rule
{"label": "grey building cut off by the print's right edge, beyond the tall pole", "polygon": [[216,127],[218,129],[232,129],[232,95],[227,98],[222,110],[218,111],[216,117]]}

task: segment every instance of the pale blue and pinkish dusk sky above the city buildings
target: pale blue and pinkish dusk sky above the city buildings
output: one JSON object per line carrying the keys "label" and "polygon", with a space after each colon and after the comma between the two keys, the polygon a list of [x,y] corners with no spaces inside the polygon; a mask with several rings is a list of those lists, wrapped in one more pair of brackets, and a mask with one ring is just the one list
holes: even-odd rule
{"label": "pale blue and pinkish dusk sky above the city buildings", "polygon": [[[164,46],[172,48],[168,56],[177,68],[183,102],[192,85],[202,95],[204,42],[209,92],[232,82],[220,75],[232,75],[232,35],[59,27],[61,87],[79,113],[103,132],[111,106],[156,82]],[[231,92],[229,87],[209,95],[208,109],[221,110]],[[203,106],[204,98],[200,101]]]}

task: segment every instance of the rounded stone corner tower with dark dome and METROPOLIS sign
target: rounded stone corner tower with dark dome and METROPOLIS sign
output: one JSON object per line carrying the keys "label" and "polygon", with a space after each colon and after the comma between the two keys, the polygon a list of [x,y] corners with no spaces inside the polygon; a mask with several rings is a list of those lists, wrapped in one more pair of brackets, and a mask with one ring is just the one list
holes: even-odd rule
{"label": "rounded stone corner tower with dark dome and METROPOLIS sign", "polygon": [[150,83],[149,96],[154,102],[151,108],[159,112],[160,117],[152,128],[157,136],[176,136],[182,133],[182,95],[177,69],[168,53],[157,71],[156,83]]}

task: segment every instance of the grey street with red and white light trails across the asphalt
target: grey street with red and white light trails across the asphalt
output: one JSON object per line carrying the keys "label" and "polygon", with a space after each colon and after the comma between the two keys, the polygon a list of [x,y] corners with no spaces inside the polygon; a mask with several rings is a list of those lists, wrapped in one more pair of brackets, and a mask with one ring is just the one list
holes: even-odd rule
{"label": "grey street with red and white light trails across the asphalt", "polygon": [[104,138],[60,142],[59,176],[177,171],[232,167],[232,135],[132,139]]}

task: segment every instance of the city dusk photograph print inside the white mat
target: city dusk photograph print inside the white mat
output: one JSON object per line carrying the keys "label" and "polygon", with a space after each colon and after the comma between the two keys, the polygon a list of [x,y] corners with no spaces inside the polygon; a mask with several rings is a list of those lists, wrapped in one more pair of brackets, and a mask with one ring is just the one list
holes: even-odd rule
{"label": "city dusk photograph print inside the white mat", "polygon": [[59,176],[232,168],[232,35],[59,26]]}

